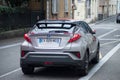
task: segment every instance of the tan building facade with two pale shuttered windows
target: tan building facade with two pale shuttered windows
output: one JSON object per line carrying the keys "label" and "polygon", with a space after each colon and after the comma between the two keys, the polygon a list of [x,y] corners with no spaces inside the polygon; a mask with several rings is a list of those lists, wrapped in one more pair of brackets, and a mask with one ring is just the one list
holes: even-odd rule
{"label": "tan building facade with two pale shuttered windows", "polygon": [[47,16],[50,19],[71,18],[71,0],[48,0]]}

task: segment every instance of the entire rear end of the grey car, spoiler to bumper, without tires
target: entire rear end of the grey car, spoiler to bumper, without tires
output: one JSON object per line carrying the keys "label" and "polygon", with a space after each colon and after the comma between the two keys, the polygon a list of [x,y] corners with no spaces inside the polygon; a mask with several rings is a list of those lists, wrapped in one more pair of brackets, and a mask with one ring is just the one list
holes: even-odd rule
{"label": "entire rear end of the grey car, spoiler to bumper, without tires", "polygon": [[[80,66],[85,48],[74,24],[40,23],[24,35],[21,67]],[[85,47],[85,46],[84,46]],[[82,52],[83,53],[83,52]]]}

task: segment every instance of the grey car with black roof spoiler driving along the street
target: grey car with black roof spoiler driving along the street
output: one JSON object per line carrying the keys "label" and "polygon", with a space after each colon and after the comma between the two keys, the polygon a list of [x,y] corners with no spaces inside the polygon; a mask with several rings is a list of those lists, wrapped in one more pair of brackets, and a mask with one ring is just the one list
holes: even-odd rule
{"label": "grey car with black roof spoiler driving along the street", "polygon": [[24,35],[20,65],[24,74],[35,67],[73,67],[88,74],[89,62],[99,62],[99,40],[84,21],[43,20]]}

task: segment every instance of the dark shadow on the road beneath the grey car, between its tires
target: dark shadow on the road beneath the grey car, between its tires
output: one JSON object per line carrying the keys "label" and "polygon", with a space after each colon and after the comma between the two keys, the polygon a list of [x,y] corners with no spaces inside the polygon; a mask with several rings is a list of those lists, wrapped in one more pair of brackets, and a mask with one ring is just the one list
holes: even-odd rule
{"label": "dark shadow on the road beneath the grey car, between its tires", "polygon": [[46,76],[46,77],[68,77],[74,78],[79,77],[76,74],[76,71],[72,68],[67,67],[48,67],[48,68],[39,68],[36,69],[35,74],[36,76]]}

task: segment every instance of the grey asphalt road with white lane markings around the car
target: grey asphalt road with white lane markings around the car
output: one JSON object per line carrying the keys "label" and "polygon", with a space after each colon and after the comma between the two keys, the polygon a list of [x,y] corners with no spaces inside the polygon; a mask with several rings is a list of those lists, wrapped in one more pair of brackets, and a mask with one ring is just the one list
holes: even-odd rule
{"label": "grey asphalt road with white lane markings around the car", "polygon": [[20,44],[23,38],[0,41],[0,80],[119,80],[120,24],[115,17],[92,24],[101,43],[100,62],[90,65],[87,76],[77,76],[71,68],[37,68],[26,76],[20,69]]}

